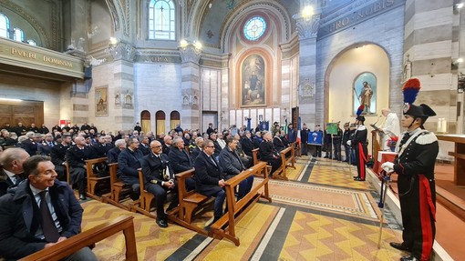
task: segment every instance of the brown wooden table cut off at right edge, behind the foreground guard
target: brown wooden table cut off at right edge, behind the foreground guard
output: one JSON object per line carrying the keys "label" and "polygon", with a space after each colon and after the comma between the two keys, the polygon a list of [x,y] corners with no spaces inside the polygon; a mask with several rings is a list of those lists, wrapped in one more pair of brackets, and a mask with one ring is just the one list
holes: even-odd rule
{"label": "brown wooden table cut off at right edge, behind the foreground guard", "polygon": [[454,151],[449,156],[454,157],[454,184],[465,186],[465,135],[437,135],[439,140],[454,143]]}

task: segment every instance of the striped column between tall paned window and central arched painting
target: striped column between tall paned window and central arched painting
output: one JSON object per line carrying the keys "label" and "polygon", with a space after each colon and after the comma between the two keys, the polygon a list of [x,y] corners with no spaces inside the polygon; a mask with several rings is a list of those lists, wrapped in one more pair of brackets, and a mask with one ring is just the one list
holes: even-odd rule
{"label": "striped column between tall paned window and central arched painting", "polygon": [[183,129],[201,128],[201,83],[200,65],[202,50],[194,45],[186,45],[179,48],[181,55],[181,126]]}

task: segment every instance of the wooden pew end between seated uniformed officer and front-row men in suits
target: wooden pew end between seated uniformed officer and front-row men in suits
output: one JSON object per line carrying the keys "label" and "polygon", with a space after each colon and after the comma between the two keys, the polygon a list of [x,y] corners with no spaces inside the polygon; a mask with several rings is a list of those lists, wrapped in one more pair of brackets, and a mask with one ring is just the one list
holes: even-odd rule
{"label": "wooden pew end between seated uniformed officer and front-row men in suits", "polygon": [[205,229],[202,229],[198,226],[193,226],[191,224],[192,217],[194,216],[194,214],[196,212],[206,209],[206,206],[209,205],[208,196],[203,196],[202,194],[197,193],[193,190],[187,191],[186,179],[191,176],[194,176],[194,174],[195,170],[193,168],[176,174],[176,180],[178,181],[178,196],[180,206],[176,211],[171,211],[168,217],[171,221],[181,226],[184,226],[197,233],[207,236],[208,232]]}

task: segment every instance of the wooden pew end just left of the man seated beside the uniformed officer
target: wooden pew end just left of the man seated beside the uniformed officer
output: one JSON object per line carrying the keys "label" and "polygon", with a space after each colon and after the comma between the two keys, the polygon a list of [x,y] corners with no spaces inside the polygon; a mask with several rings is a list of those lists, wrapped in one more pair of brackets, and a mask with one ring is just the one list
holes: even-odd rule
{"label": "wooden pew end just left of the man seated beside the uniformed officer", "polygon": [[130,210],[130,206],[124,206],[119,203],[119,198],[121,196],[128,196],[131,192],[130,187],[125,187],[124,183],[119,180],[117,176],[118,163],[109,164],[109,184],[110,191],[109,196],[103,196],[102,202],[109,203],[113,206],[118,206],[120,208]]}

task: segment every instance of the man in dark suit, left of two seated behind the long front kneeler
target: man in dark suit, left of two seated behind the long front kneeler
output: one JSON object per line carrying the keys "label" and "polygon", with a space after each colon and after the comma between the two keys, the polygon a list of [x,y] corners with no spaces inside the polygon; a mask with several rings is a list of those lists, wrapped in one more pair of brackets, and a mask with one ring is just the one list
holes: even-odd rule
{"label": "man in dark suit, left of two seated behind the long front kneeler", "polygon": [[222,217],[222,205],[226,198],[224,175],[220,164],[212,157],[215,146],[211,140],[203,140],[202,153],[195,159],[195,181],[197,192],[215,196],[213,223]]}

